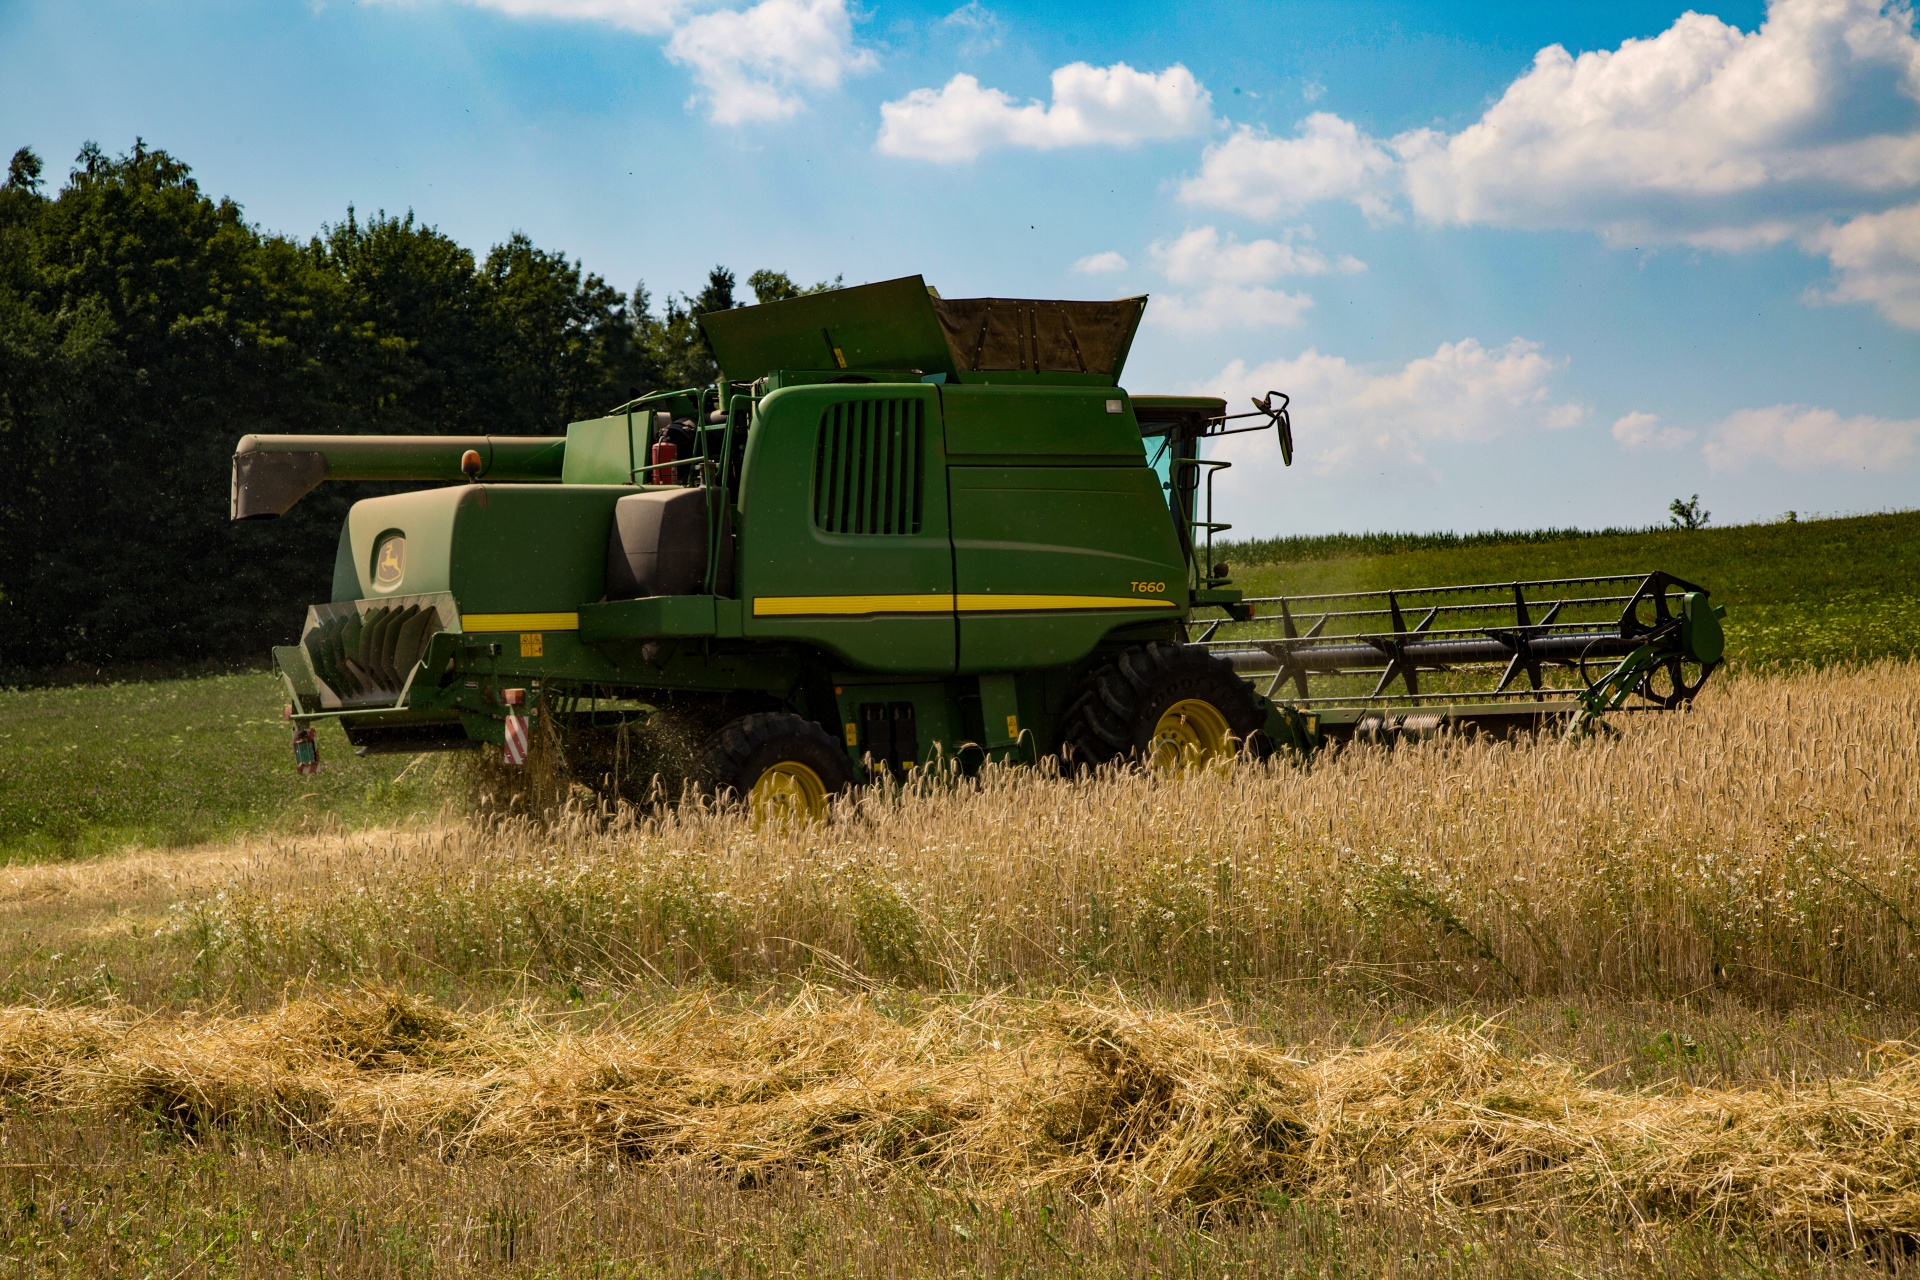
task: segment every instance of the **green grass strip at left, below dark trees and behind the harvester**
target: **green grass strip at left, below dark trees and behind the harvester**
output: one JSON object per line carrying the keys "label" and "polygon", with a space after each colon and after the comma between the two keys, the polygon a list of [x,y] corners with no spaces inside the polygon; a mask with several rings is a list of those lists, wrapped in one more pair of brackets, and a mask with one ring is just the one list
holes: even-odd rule
{"label": "green grass strip at left, below dark trees and behind the harvester", "polygon": [[440,808],[444,758],[359,758],[334,725],[301,777],[284,704],[267,674],[0,691],[0,862]]}

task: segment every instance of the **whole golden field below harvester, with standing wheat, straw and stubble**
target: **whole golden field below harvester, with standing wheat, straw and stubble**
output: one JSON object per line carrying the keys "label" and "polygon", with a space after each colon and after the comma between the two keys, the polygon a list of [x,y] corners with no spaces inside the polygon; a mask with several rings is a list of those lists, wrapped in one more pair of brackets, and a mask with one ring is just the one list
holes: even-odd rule
{"label": "whole golden field below harvester, with standing wheat, straw and stubble", "polygon": [[0,869],[6,1257],[1903,1274],[1920,666],[1617,725]]}

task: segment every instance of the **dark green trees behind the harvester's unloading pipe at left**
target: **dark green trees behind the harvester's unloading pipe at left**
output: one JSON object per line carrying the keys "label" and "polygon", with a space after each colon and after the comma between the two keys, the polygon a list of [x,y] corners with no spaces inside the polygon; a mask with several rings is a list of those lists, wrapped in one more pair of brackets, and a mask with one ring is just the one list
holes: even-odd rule
{"label": "dark green trees behind the harvester's unloading pipe at left", "polygon": [[[755,301],[829,288],[776,271]],[[837,282],[835,282],[837,284]],[[263,230],[136,142],[46,192],[0,186],[0,681],[54,668],[259,658],[330,589],[346,507],[228,524],[248,432],[559,434],[641,390],[710,382],[714,267],[653,305],[524,234],[484,257],[409,211],[307,240]]]}

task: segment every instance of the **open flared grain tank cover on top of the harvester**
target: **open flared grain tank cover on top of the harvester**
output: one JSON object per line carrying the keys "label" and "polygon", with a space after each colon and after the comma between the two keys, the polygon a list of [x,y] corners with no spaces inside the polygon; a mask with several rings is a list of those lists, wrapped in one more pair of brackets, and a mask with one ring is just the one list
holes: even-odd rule
{"label": "open flared grain tank cover on top of the harvester", "polygon": [[808,294],[701,317],[728,378],[778,368],[918,368],[954,382],[1021,374],[1031,382],[1114,386],[1144,297],[1050,301],[935,297],[920,276]]}

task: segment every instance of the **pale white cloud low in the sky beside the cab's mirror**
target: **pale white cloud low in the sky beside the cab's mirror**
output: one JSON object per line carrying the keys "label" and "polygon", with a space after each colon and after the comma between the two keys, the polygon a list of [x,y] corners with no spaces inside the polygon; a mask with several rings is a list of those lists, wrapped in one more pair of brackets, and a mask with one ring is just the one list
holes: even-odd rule
{"label": "pale white cloud low in the sky beside the cab's mirror", "polygon": [[1421,466],[1423,447],[1432,441],[1490,441],[1576,426],[1586,416],[1580,405],[1553,399],[1549,384],[1559,367],[1524,338],[1501,347],[1465,338],[1386,372],[1315,349],[1252,368],[1233,361],[1204,388],[1229,403],[1269,390],[1292,395],[1300,461],[1332,474]]}

